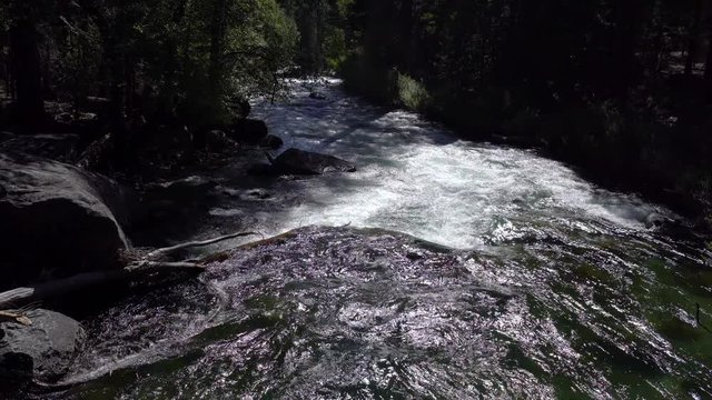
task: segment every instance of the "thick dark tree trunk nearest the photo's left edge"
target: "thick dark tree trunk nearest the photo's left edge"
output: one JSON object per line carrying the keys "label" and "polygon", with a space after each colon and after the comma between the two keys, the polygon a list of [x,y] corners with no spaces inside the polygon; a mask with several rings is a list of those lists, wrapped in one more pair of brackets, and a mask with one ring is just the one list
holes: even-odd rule
{"label": "thick dark tree trunk nearest the photo's left edge", "polygon": [[10,70],[17,91],[18,122],[33,129],[44,119],[42,70],[31,2],[16,2],[10,27]]}

